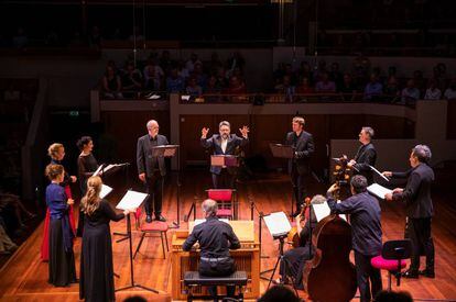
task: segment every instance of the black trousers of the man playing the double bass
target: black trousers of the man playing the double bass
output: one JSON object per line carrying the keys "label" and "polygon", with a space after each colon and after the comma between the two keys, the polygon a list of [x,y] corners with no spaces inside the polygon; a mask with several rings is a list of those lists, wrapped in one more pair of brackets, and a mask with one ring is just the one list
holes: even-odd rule
{"label": "black trousers of the man playing the double bass", "polygon": [[356,279],[361,302],[369,302],[382,289],[380,270],[370,264],[372,257],[374,256],[362,255],[355,250]]}

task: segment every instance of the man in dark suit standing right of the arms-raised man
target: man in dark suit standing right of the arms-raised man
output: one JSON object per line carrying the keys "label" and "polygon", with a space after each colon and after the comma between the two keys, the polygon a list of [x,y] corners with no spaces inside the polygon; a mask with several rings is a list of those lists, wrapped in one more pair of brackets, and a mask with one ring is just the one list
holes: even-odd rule
{"label": "man in dark suit standing right of the arms-raised man", "polygon": [[294,148],[294,158],[289,161],[289,171],[296,200],[296,211],[293,216],[301,213],[301,205],[306,197],[305,179],[311,174],[310,163],[312,154],[315,152],[314,138],[311,133],[304,131],[304,118],[293,118],[293,131],[286,134],[286,145]]}

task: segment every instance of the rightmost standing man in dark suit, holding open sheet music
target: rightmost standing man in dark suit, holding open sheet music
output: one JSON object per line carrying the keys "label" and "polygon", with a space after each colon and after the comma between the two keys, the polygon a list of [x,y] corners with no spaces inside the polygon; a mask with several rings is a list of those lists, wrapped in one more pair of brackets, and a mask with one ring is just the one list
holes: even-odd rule
{"label": "rightmost standing man in dark suit, holding open sheet music", "polygon": [[[405,189],[397,188],[393,193],[386,194],[389,201],[405,202],[409,217],[409,236],[412,242],[412,257],[405,278],[419,278],[424,275],[435,278],[434,271],[434,241],[431,234],[431,222],[434,208],[431,199],[431,186],[434,181],[434,171],[427,165],[431,159],[431,149],[426,145],[416,145],[410,154],[410,166]],[[404,174],[386,171],[388,177],[402,177]],[[420,271],[420,251],[426,256],[426,269]]]}

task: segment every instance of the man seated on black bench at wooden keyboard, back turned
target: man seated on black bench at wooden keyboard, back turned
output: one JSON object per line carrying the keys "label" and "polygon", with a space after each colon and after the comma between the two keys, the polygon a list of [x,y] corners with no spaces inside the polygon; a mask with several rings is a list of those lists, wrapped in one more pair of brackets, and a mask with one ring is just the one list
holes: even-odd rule
{"label": "man seated on black bench at wooden keyboard, back turned", "polygon": [[[182,248],[188,251],[198,242],[200,248],[198,270],[202,276],[224,277],[236,270],[229,250],[240,248],[240,242],[231,225],[217,219],[217,208],[215,200],[206,199],[203,202],[206,221],[196,225],[182,245]],[[210,287],[209,293],[216,297],[217,287]],[[227,287],[227,294],[234,297],[235,287]],[[217,301],[217,299],[214,298],[214,301]]]}

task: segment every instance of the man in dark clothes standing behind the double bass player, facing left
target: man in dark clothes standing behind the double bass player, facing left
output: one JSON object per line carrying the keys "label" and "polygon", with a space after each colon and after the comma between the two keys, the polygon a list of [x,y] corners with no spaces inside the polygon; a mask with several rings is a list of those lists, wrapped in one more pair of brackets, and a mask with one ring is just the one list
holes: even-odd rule
{"label": "man in dark clothes standing behind the double bass player, facing left", "polygon": [[361,146],[355,156],[348,163],[348,167],[354,169],[354,175],[362,175],[368,180],[368,184],[373,183],[373,171],[370,166],[376,165],[377,152],[372,144],[373,128],[362,127],[359,133]]}

